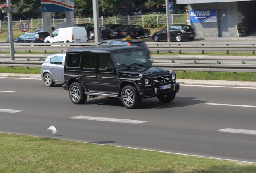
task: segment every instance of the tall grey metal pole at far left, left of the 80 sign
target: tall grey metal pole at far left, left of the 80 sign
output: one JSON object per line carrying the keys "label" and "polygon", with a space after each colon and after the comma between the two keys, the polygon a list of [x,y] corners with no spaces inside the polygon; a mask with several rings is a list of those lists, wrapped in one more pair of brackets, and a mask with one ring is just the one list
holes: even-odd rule
{"label": "tall grey metal pole at far left, left of the 80 sign", "polygon": [[12,7],[10,0],[7,0],[7,16],[8,16],[8,29],[9,29],[9,43],[10,43],[10,58],[15,60],[14,45],[13,45],[13,32],[12,32]]}

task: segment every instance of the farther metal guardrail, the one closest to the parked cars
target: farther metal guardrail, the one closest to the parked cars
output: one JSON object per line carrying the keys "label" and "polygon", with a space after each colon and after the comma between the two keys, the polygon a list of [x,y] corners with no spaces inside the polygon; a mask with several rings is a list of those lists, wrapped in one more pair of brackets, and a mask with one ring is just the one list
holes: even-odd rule
{"label": "farther metal guardrail, the one closest to the parked cars", "polygon": [[[78,46],[95,45],[96,43],[15,43],[15,51],[59,51]],[[179,51],[182,52],[252,52],[255,54],[256,41],[227,41],[227,42],[147,42],[151,51]],[[0,51],[10,51],[9,44],[0,44]]]}

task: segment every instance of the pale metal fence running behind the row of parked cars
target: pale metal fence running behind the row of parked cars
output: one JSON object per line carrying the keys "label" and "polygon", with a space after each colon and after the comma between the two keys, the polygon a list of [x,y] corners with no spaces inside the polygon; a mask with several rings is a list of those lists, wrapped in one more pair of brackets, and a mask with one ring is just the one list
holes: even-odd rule
{"label": "pale metal fence running behind the row of parked cars", "polygon": [[[171,14],[169,16],[170,24],[186,24],[189,20],[188,14]],[[12,21],[12,28],[19,29],[19,24],[23,21],[29,23],[30,28],[38,28],[43,26],[43,19],[30,19],[30,20],[19,20]],[[51,19],[51,25],[56,26],[60,22],[66,22],[64,19]],[[156,15],[139,15],[139,16],[113,16],[107,18],[99,18],[99,25],[104,24],[136,24],[144,25],[145,23],[154,22],[156,25],[166,24],[166,15],[165,14],[156,14]],[[93,23],[93,18],[75,18],[74,24],[80,23]],[[0,30],[8,30],[8,22],[0,21]]]}

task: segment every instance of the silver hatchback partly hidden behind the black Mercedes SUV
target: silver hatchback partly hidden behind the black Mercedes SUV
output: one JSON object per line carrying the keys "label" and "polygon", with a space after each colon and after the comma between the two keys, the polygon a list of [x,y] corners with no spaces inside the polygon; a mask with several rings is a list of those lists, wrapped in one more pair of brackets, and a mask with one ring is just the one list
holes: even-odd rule
{"label": "silver hatchback partly hidden behind the black Mercedes SUV", "polygon": [[49,55],[41,68],[41,79],[46,87],[53,87],[55,82],[64,80],[64,63],[66,53],[58,53]]}

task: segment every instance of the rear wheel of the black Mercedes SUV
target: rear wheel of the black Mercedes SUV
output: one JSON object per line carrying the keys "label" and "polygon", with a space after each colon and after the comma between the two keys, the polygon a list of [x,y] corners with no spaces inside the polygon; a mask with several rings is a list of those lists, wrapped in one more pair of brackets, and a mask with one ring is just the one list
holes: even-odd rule
{"label": "rear wheel of the black Mercedes SUV", "polygon": [[83,104],[87,100],[87,95],[85,95],[84,89],[78,82],[74,82],[70,85],[68,93],[70,100],[74,104]]}

